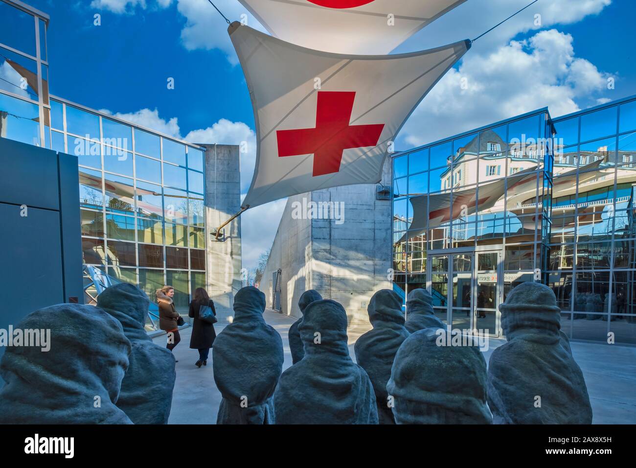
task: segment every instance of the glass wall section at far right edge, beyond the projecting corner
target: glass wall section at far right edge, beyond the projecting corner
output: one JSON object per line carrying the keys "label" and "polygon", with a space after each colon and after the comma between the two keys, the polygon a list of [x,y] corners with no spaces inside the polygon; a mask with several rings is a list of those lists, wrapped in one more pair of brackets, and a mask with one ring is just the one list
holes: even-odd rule
{"label": "glass wall section at far right edge, beyond the projecting corner", "polygon": [[636,100],[554,122],[548,284],[563,330],[636,344]]}

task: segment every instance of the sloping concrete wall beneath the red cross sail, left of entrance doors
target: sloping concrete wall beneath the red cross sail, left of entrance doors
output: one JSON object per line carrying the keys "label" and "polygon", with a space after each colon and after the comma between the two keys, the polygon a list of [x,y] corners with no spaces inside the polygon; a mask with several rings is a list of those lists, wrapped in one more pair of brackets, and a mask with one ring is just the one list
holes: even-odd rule
{"label": "sloping concrete wall beneath the red cross sail, left of entrance doors", "polygon": [[[387,160],[383,185],[391,186]],[[371,326],[366,306],[379,289],[391,288],[391,201],[378,200],[377,185],[347,185],[289,197],[272,245],[260,288],[271,307],[270,279],[281,269],[282,313],[300,317],[298,299],[315,289],[325,299],[340,302],[350,326]],[[333,219],[293,219],[293,204],[344,202],[343,222]]]}

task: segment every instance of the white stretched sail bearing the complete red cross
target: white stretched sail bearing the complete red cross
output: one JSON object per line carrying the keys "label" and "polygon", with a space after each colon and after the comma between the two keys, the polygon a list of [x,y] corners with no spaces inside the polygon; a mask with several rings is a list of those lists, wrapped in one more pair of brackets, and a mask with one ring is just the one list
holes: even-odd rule
{"label": "white stretched sail bearing the complete red cross", "polygon": [[239,22],[228,31],[256,120],[256,168],[244,207],[380,181],[406,119],[470,47],[460,41],[399,55],[343,55]]}

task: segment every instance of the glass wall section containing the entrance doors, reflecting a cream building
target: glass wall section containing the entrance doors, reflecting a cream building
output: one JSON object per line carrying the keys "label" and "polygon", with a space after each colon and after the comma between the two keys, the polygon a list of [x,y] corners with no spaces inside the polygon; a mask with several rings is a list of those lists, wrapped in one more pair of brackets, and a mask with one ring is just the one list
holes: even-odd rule
{"label": "glass wall section containing the entrance doors, reflecting a cream building", "polygon": [[552,136],[542,110],[394,158],[394,283],[404,294],[429,288],[445,322],[501,334],[499,302],[543,278]]}

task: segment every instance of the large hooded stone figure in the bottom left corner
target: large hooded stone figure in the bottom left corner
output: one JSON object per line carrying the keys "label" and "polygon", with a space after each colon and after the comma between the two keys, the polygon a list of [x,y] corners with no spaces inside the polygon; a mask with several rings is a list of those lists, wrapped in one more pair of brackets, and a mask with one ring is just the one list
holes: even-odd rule
{"label": "large hooded stone figure in the bottom left corner", "polygon": [[10,346],[0,362],[0,423],[132,424],[115,406],[130,341],[102,309],[59,304],[15,327],[50,330],[50,350]]}

